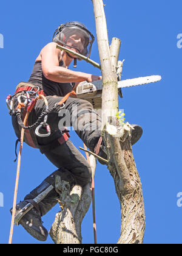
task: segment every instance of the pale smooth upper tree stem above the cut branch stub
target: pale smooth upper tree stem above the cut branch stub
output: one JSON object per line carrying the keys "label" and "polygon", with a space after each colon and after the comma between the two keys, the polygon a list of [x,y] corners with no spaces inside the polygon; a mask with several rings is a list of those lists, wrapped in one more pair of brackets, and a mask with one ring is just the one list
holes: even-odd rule
{"label": "pale smooth upper tree stem above the cut branch stub", "polygon": [[116,71],[110,58],[109,41],[107,35],[106,16],[103,1],[92,0],[95,15],[96,37],[103,76],[103,101],[102,101],[102,129],[107,123],[109,116],[118,113],[118,84]]}

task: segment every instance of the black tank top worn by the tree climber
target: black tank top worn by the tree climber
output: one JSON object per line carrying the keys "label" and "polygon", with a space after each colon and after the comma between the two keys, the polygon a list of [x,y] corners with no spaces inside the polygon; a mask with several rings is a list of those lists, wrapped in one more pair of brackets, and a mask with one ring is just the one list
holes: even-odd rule
{"label": "black tank top worn by the tree climber", "polygon": [[[64,66],[63,61],[59,62],[59,66]],[[75,85],[75,83],[53,82],[52,80],[45,78],[44,74],[42,73],[41,60],[35,62],[28,82],[38,86],[47,96],[65,96],[67,93],[72,91]]]}

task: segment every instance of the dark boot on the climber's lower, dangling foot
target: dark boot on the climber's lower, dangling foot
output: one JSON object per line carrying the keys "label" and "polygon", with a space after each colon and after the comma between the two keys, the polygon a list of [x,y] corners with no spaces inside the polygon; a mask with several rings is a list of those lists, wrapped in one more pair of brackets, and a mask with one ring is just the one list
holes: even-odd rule
{"label": "dark boot on the climber's lower, dangling foot", "polygon": [[[16,205],[15,216],[27,204],[28,202],[26,201],[19,202],[19,204]],[[10,210],[10,213],[12,214],[12,209]],[[37,240],[47,240],[47,229],[45,229],[45,227],[42,225],[41,215],[36,208],[32,208],[32,210],[25,214],[19,221],[19,224],[21,224],[21,226],[24,227],[24,229]]]}

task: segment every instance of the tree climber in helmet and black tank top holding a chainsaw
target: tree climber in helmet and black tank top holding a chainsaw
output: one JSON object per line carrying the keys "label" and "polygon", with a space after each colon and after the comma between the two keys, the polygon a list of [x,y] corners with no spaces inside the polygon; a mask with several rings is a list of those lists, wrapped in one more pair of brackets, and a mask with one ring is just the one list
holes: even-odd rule
{"label": "tree climber in helmet and black tank top holding a chainsaw", "polygon": [[[45,241],[48,235],[47,230],[42,225],[41,216],[49,212],[57,204],[59,198],[59,193],[55,189],[55,177],[60,176],[61,180],[69,182],[70,187],[75,184],[84,187],[91,178],[89,164],[69,140],[69,133],[65,130],[66,125],[60,124],[63,119],[62,113],[66,113],[66,116],[69,116],[70,126],[73,126],[75,132],[86,146],[101,157],[107,158],[107,155],[100,149],[100,145],[103,144],[101,142],[101,116],[93,110],[92,104],[84,99],[75,97],[67,98],[62,105],[58,104],[66,94],[76,88],[79,82],[84,80],[93,82],[101,79],[101,76],[70,70],[69,65],[72,60],[76,65],[75,56],[57,49],[56,45],[60,44],[72,51],[90,57],[93,41],[92,33],[86,26],[77,21],[59,26],[53,35],[53,41],[45,45],[36,58],[28,83],[20,83],[16,87],[16,94],[13,97],[13,109],[16,109],[21,97],[24,98],[24,95],[27,97],[29,93],[41,91],[46,96],[49,107],[54,108],[54,111],[49,113],[47,119],[51,130],[50,135],[47,136],[45,127],[40,126],[39,130],[33,129],[25,132],[24,141],[29,146],[33,146],[33,148],[39,148],[41,153],[58,169],[50,174],[41,185],[27,194],[24,201],[16,205],[16,215],[27,204],[33,205],[33,208],[27,211],[18,224],[21,224],[30,235],[40,241]],[[44,100],[39,99],[29,115],[28,124],[31,126],[35,123],[44,110]],[[21,114],[23,115],[23,111]],[[12,124],[16,136],[20,138],[21,127],[15,114],[12,115]],[[132,132],[132,144],[136,143],[142,134],[140,126],[135,125],[133,127],[135,130]],[[50,185],[54,189],[47,193],[39,204],[33,201]],[[12,209],[10,211],[12,212]]]}

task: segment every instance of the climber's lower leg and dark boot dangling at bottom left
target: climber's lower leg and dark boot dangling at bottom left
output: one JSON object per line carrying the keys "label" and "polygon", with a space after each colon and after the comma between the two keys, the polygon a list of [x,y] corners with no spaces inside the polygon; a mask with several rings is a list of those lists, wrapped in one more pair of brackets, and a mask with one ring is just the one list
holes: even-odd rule
{"label": "climber's lower leg and dark boot dangling at bottom left", "polygon": [[[27,194],[24,201],[19,202],[19,204],[16,205],[15,219],[16,216],[22,212],[22,209],[24,212],[26,205],[27,208],[30,208],[29,205],[31,206],[31,210],[28,210],[28,212],[22,216],[18,225],[21,224],[30,235],[39,241],[47,240],[48,236],[47,229],[42,225],[41,216],[49,212],[49,210],[58,203],[59,194],[55,190],[55,176],[57,175],[61,177],[61,180],[69,182],[70,187],[75,184],[71,172],[67,171],[67,169],[60,168],[58,171],[53,172],[47,177],[41,185],[36,187],[30,194]],[[52,185],[53,188],[50,187],[50,185]],[[51,188],[51,191],[46,194],[47,188]],[[44,199],[37,204],[33,199],[36,199],[42,192],[45,192],[46,195],[44,194]],[[12,209],[10,210],[10,213],[12,214]]]}

